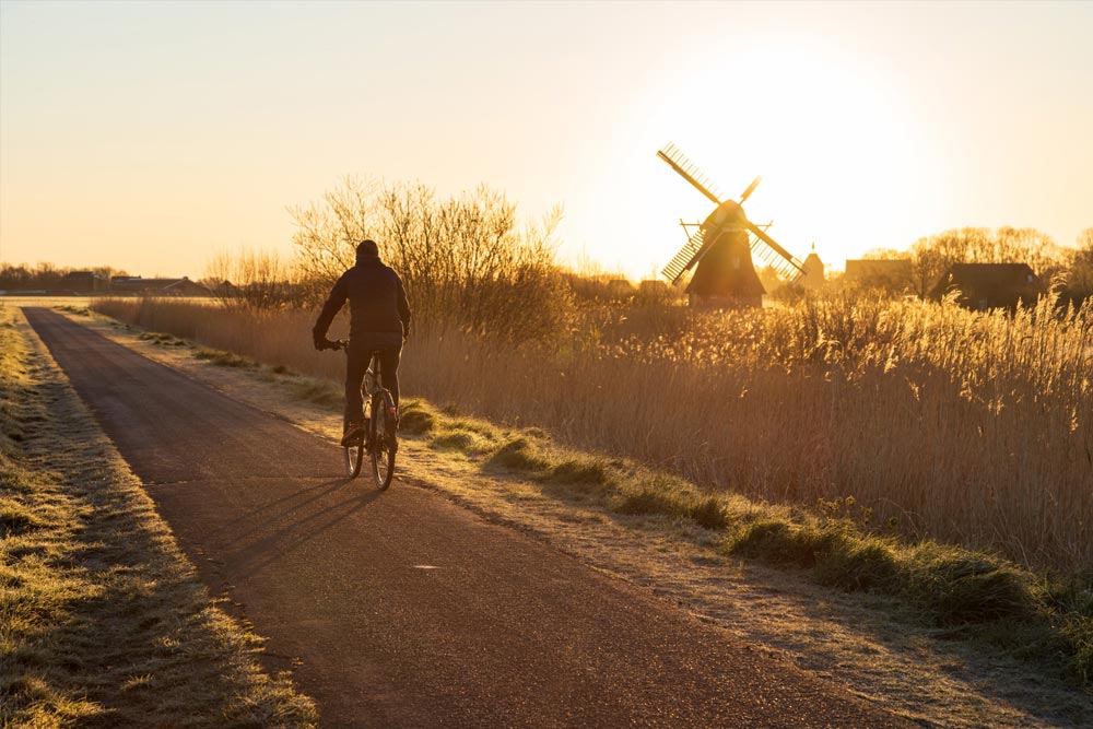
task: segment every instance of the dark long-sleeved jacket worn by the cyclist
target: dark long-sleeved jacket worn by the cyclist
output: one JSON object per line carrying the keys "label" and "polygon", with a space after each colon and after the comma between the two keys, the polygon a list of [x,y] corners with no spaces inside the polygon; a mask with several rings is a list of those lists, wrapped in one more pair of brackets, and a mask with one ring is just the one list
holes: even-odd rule
{"label": "dark long-sleeved jacket worn by the cyclist", "polygon": [[316,339],[327,336],[330,322],[346,298],[350,340],[362,340],[369,334],[410,333],[410,303],[402,279],[377,256],[357,257],[356,266],[338,279],[312,329]]}

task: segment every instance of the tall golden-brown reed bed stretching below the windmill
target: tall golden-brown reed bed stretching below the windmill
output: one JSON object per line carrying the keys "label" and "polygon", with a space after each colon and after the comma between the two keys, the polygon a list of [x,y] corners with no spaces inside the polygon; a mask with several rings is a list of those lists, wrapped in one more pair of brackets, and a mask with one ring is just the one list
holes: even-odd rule
{"label": "tall golden-brown reed bed stretching below the windmill", "polygon": [[[94,308],[341,377],[341,357],[310,348],[312,313],[154,299]],[[703,314],[596,306],[575,321],[555,341],[520,345],[415,326],[403,391],[705,489],[804,505],[853,496],[877,527],[1067,574],[1093,565],[1090,304],[1014,315],[848,298]]]}

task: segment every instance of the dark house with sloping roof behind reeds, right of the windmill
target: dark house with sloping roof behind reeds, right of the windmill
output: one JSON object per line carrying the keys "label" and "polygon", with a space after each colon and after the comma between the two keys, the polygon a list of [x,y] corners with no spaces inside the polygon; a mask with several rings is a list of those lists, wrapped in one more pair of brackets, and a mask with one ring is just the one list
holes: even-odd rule
{"label": "dark house with sloping roof behind reeds, right of the windmill", "polygon": [[1019,302],[1032,306],[1044,285],[1027,263],[956,263],[933,286],[930,298],[954,291],[960,292],[961,306],[984,311],[1013,309]]}

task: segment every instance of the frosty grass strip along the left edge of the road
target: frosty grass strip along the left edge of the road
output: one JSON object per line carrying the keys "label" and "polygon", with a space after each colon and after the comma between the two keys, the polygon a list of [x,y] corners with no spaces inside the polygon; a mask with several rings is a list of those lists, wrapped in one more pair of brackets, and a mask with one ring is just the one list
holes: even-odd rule
{"label": "frosty grass strip along the left edge of the road", "polygon": [[316,726],[7,306],[0,426],[4,727]]}

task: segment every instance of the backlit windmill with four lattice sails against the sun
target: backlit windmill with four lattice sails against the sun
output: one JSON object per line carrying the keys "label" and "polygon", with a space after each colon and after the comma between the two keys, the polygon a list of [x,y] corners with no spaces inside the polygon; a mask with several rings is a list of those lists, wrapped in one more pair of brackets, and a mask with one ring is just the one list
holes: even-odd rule
{"label": "backlit windmill with four lattice sails against the sun", "polygon": [[[766,234],[769,223],[755,225],[744,215],[741,205],[762,177],[752,180],[736,201],[721,195],[674,144],[668,144],[657,156],[717,205],[702,223],[680,221],[687,242],[661,271],[674,285],[695,269],[686,287],[692,305],[761,306],[766,291],[755,273],[752,256],[790,282],[804,274],[804,264]],[[691,228],[696,230],[692,233]]]}

